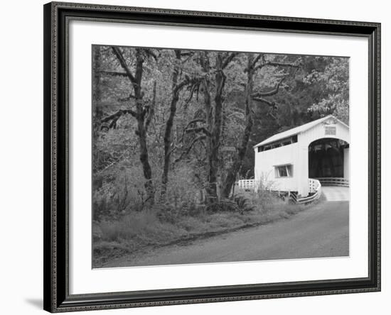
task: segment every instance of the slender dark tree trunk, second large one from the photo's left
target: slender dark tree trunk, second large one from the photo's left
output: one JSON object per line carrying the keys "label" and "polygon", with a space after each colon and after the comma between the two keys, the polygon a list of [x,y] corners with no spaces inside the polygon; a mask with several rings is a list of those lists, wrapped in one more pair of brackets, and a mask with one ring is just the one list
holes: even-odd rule
{"label": "slender dark tree trunk, second large one from the photo's left", "polygon": [[[181,50],[175,50],[176,61],[181,60]],[[173,119],[176,115],[176,105],[178,104],[179,99],[179,89],[178,87],[178,75],[179,75],[179,62],[176,62],[173,69],[173,79],[172,79],[172,99],[170,106],[170,114],[166,121],[166,131],[164,132],[164,165],[163,165],[163,174],[161,175],[161,192],[160,198],[161,201],[166,199],[167,192],[167,183],[168,183],[168,169],[170,167],[170,157],[171,157],[171,133],[173,128]]]}

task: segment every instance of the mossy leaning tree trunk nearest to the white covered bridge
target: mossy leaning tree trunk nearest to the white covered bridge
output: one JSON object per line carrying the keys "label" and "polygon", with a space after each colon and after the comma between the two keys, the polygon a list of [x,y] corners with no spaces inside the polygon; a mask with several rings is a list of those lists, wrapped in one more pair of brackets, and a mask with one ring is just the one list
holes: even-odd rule
{"label": "mossy leaning tree trunk nearest to the white covered bridge", "polygon": [[225,182],[223,184],[223,197],[227,198],[230,196],[230,192],[232,190],[233,185],[236,181],[237,173],[240,170],[240,167],[242,167],[243,160],[246,155],[247,151],[247,145],[250,140],[252,126],[254,124],[253,118],[252,118],[252,90],[254,87],[253,82],[253,76],[254,76],[254,58],[252,54],[247,55],[247,84],[245,88],[245,114],[246,114],[246,124],[245,124],[245,131],[242,136],[242,140],[240,143],[240,147],[237,150],[237,155],[235,156],[235,160],[232,163],[232,166],[230,167],[230,170],[228,170],[227,177],[225,177]]}

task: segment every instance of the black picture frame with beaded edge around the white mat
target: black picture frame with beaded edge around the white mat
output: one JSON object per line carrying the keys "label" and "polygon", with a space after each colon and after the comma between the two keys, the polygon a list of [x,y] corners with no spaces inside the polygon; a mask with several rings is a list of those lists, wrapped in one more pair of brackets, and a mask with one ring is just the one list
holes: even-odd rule
{"label": "black picture frame with beaded edge around the white mat", "polygon": [[[51,2],[44,10],[44,309],[50,312],[380,291],[380,23]],[[363,36],[369,47],[368,277],[277,284],[69,294],[68,21]]]}

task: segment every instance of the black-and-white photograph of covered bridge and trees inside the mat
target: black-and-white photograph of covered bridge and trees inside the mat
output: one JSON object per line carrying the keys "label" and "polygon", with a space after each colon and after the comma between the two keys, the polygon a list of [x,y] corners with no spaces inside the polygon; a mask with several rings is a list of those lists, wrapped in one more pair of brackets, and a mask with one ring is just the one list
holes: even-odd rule
{"label": "black-and-white photograph of covered bridge and trees inside the mat", "polygon": [[349,57],[91,54],[92,268],[350,255]]}

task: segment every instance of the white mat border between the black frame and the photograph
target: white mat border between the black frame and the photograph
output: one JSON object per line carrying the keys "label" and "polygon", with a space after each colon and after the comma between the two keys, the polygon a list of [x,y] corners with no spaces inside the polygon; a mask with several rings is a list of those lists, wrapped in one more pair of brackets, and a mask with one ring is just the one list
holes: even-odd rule
{"label": "white mat border between the black frame and the photograph", "polygon": [[[341,279],[368,276],[368,40],[319,36],[70,21],[70,294],[141,289]],[[91,45],[349,56],[350,257],[91,270]],[[292,272],[294,270],[294,272]]]}

